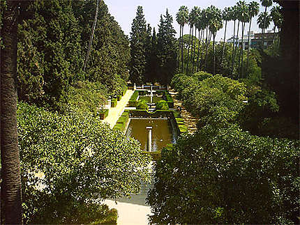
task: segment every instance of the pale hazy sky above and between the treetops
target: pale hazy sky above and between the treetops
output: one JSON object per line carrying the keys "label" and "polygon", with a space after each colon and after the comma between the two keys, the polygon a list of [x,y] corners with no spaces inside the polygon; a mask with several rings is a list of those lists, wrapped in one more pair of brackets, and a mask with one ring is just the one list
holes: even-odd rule
{"label": "pale hazy sky above and between the treetops", "polygon": [[[247,3],[253,0],[246,0]],[[257,0],[260,3],[260,1]],[[216,6],[223,10],[223,8],[228,6],[234,6],[236,0],[107,0],[107,4],[110,13],[114,16],[115,20],[120,24],[121,28],[129,36],[131,23],[136,15],[137,6],[142,6],[144,9],[144,15],[147,23],[151,24],[151,27],[156,27],[156,32],[158,31],[158,23],[160,14],[165,14],[165,10],[168,9],[169,13],[172,15],[174,23],[174,29],[177,31],[177,37],[179,36],[179,25],[177,24],[175,17],[180,6],[188,6],[190,10],[193,6],[199,6],[200,8],[207,8],[208,6]],[[274,4],[273,4],[274,5]],[[264,8],[261,7],[261,11]],[[271,10],[271,7],[269,8]],[[256,24],[257,18],[253,20],[251,24],[251,30],[258,32],[258,26]],[[225,24],[224,24],[225,26]],[[248,24],[246,28],[248,31]],[[269,26],[269,29],[273,29],[273,23]],[[188,26],[185,26],[184,33],[188,33]],[[237,32],[237,31],[236,31]],[[239,32],[241,34],[241,32]],[[227,23],[227,35],[226,39],[233,35],[233,22]],[[218,31],[216,40],[220,40],[224,36],[224,27]]]}

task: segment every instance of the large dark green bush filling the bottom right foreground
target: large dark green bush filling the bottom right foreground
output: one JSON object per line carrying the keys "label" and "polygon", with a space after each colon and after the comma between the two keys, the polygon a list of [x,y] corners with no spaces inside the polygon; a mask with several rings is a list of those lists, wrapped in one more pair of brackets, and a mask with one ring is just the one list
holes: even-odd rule
{"label": "large dark green bush filling the bottom right foreground", "polygon": [[151,224],[297,224],[299,147],[236,125],[181,136],[156,164]]}

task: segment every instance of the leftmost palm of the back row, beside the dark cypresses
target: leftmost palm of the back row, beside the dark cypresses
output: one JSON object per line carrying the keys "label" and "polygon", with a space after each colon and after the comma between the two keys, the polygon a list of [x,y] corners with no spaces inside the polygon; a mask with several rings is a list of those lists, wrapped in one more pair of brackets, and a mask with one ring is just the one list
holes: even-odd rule
{"label": "leftmost palm of the back row, beside the dark cypresses", "polygon": [[183,72],[183,28],[188,20],[188,7],[181,6],[176,14],[176,21],[180,25],[179,31],[179,47],[178,47],[178,70],[179,70],[179,57],[181,50],[181,72]]}

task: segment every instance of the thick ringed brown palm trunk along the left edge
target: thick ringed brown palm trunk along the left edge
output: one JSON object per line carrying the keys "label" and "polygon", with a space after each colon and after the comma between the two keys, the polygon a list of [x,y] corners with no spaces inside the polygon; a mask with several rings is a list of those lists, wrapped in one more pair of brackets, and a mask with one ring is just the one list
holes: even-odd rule
{"label": "thick ringed brown palm trunk along the left edge", "polygon": [[3,10],[0,77],[1,224],[22,224],[20,153],[17,141],[17,22],[19,1]]}

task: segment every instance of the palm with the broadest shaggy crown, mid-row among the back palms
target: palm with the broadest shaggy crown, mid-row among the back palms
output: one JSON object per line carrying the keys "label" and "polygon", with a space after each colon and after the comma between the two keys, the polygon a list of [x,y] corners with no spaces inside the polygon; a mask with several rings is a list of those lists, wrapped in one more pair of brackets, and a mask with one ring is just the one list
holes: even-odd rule
{"label": "palm with the broadest shaggy crown, mid-row among the back palms", "polygon": [[215,38],[218,30],[222,29],[222,11],[215,6],[211,6],[211,20],[209,20],[209,31],[213,36],[213,75],[216,74],[216,47]]}

